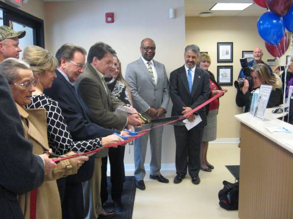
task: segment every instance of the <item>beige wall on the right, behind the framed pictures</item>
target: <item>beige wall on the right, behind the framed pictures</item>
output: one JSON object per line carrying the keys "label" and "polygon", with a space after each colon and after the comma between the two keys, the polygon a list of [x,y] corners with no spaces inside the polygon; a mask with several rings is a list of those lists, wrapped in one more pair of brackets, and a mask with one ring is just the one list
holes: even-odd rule
{"label": "beige wall on the right, behind the framed pictures", "polygon": [[[197,44],[201,51],[208,52],[212,63],[209,68],[217,77],[217,65],[233,65],[233,81],[237,80],[241,68],[242,51],[263,49],[262,60],[272,57],[264,41],[257,33],[258,17],[186,17],[186,45]],[[233,63],[217,63],[217,42],[233,42]],[[276,60],[277,63],[277,60]],[[234,115],[241,113],[235,103],[236,89],[225,86],[228,92],[220,99],[217,138],[239,138],[240,123]]]}

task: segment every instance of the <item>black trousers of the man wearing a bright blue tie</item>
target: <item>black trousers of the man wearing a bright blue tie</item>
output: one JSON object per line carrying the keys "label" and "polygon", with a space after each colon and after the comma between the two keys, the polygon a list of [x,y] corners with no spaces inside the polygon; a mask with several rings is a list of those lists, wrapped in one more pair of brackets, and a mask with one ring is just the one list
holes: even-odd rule
{"label": "black trousers of the man wearing a bright blue tie", "polygon": [[189,131],[185,126],[174,126],[176,141],[176,173],[191,177],[198,176],[200,170],[200,144],[203,127],[193,127]]}

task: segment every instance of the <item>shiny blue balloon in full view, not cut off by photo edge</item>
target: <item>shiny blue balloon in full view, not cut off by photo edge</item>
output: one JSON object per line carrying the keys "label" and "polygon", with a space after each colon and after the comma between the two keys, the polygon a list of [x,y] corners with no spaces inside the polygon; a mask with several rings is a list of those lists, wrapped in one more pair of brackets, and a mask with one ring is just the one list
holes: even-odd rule
{"label": "shiny blue balloon in full view, not cut off by photo edge", "polygon": [[284,30],[282,18],[272,12],[266,12],[258,18],[257,31],[270,44],[278,44],[284,36]]}

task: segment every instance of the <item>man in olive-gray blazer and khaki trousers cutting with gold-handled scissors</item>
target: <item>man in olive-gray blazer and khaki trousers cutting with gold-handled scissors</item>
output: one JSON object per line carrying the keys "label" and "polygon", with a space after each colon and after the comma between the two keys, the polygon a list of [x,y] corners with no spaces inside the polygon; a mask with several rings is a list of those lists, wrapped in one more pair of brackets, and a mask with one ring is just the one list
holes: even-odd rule
{"label": "man in olive-gray blazer and khaki trousers cutting with gold-handled scissors", "polygon": [[[113,54],[115,53],[107,44],[102,42],[94,44],[87,55],[87,67],[78,77],[75,86],[89,109],[92,122],[104,128],[122,130],[126,125],[140,126],[142,121],[132,107],[128,109],[134,114],[124,116],[114,113],[115,109],[124,103],[110,93],[104,77],[114,71]],[[86,218],[109,218],[114,215],[114,211],[103,210],[100,197],[101,159],[107,154],[108,149],[104,149],[93,155],[95,156],[93,177],[83,182]]]}

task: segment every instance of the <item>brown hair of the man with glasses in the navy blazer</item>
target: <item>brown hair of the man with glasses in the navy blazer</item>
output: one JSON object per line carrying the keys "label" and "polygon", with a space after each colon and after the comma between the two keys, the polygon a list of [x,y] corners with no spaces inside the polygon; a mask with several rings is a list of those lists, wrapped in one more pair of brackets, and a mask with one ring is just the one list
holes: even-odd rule
{"label": "brown hair of the man with glasses in the navy blazer", "polygon": [[77,46],[75,44],[64,44],[62,45],[56,52],[56,58],[58,60],[58,65],[61,65],[61,59],[62,58],[65,58],[66,61],[70,61],[75,52],[80,52],[82,55],[86,55],[86,51],[85,49],[83,49],[82,47],[80,46]]}

